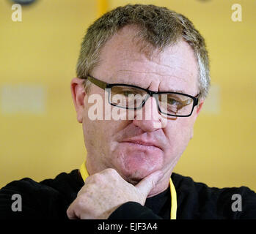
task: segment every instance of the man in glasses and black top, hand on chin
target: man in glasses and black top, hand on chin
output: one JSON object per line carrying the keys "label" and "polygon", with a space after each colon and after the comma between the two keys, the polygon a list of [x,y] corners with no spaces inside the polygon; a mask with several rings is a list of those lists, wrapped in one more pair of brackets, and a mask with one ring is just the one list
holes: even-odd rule
{"label": "man in glasses and black top, hand on chin", "polygon": [[[77,76],[71,92],[86,162],[40,183],[12,181],[0,192],[1,217],[256,218],[252,190],[172,173],[210,86],[204,39],[187,18],[139,4],[106,13],[87,30]],[[22,197],[21,212],[12,211],[13,194]]]}

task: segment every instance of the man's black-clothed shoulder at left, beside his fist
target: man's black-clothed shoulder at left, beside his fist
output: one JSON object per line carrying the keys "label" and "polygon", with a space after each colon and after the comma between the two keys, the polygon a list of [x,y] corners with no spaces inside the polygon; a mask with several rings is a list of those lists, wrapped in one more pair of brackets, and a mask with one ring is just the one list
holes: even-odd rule
{"label": "man's black-clothed shoulder at left, beside his fist", "polygon": [[[23,178],[0,189],[0,219],[41,219],[65,216],[65,209],[76,198],[80,181],[77,170],[60,173],[56,178],[34,181]],[[17,195],[22,211],[13,211]]]}

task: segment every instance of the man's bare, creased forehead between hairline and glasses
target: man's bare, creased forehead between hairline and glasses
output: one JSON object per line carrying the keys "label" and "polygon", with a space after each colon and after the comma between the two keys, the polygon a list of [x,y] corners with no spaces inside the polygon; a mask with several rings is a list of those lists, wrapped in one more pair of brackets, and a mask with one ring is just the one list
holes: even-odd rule
{"label": "man's bare, creased forehead between hairline and glasses", "polygon": [[138,46],[134,40],[135,34],[136,29],[126,26],[106,42],[95,76],[108,83],[130,83],[144,88],[155,85],[161,91],[196,91],[197,59],[187,42],[180,40],[150,59],[142,53],[143,45]]}

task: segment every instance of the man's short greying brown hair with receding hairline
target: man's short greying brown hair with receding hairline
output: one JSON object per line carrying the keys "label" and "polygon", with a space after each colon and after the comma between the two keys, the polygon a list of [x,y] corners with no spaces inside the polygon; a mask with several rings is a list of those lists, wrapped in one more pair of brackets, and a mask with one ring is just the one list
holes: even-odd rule
{"label": "man's short greying brown hair with receding hairline", "polygon": [[164,50],[179,39],[184,39],[194,50],[197,58],[198,89],[200,98],[205,99],[211,85],[205,39],[184,15],[151,4],[128,4],[117,7],[106,12],[89,26],[81,43],[76,66],[76,75],[85,80],[84,85],[87,83],[87,75],[98,64],[100,49],[118,30],[128,25],[138,26],[137,36],[154,50]]}

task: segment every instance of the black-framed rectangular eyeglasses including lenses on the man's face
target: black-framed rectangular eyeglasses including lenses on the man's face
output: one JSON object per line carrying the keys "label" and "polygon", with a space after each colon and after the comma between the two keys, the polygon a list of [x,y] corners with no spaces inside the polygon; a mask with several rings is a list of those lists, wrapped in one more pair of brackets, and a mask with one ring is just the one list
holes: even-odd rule
{"label": "black-framed rectangular eyeglasses including lenses on the man's face", "polygon": [[158,106],[158,111],[167,116],[189,117],[194,107],[198,104],[198,97],[177,92],[150,91],[138,86],[131,86],[124,83],[106,83],[91,75],[88,80],[103,88],[109,93],[109,104],[129,110],[139,110],[149,97],[154,97]]}

